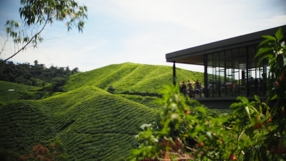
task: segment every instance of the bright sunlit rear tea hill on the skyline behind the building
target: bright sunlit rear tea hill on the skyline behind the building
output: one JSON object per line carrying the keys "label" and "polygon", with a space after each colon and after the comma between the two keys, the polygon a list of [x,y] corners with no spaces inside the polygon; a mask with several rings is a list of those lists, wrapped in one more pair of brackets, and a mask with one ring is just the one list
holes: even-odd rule
{"label": "bright sunlit rear tea hill on the skyline behind the building", "polygon": [[[70,76],[65,90],[72,90],[81,86],[96,86],[107,90],[109,86],[115,88],[116,94],[147,93],[158,94],[164,85],[172,84],[172,67],[163,65],[144,65],[134,63],[114,64],[78,73]],[[203,82],[203,73],[176,69],[177,83],[193,82],[196,79]]]}

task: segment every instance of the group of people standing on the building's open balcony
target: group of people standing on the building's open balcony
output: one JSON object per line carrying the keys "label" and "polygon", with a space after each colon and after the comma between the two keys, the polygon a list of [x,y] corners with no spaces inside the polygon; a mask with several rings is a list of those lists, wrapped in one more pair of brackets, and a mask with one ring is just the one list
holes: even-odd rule
{"label": "group of people standing on the building's open balcony", "polygon": [[183,96],[188,94],[189,97],[201,97],[202,96],[202,82],[198,82],[198,79],[193,84],[188,80],[187,85],[184,81],[180,82],[180,93]]}

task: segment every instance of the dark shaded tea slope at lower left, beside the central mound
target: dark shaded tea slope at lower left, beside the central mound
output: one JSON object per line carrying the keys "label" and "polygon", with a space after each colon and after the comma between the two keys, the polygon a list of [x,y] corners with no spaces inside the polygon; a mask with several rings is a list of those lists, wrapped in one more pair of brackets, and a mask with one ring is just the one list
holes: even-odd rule
{"label": "dark shaded tea slope at lower left, beside the central mound", "polygon": [[46,143],[56,135],[51,108],[42,101],[12,101],[0,109],[1,148],[23,154],[32,145]]}

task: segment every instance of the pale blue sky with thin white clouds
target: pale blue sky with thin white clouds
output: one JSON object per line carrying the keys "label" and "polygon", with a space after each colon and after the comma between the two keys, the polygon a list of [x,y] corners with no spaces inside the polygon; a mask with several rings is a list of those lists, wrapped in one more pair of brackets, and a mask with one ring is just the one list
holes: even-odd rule
{"label": "pale blue sky with thin white clouds", "polygon": [[[43,42],[9,61],[35,60],[90,71],[125,62],[168,65],[166,54],[286,24],[285,0],[80,0],[88,7],[83,33],[63,22],[47,26]],[[21,21],[20,0],[0,0],[0,59],[14,52],[5,23]],[[200,65],[176,67],[203,72]]]}

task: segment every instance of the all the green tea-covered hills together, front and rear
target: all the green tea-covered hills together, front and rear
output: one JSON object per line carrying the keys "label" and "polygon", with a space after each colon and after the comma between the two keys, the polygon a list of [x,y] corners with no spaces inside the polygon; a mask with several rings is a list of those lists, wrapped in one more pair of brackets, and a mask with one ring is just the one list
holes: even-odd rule
{"label": "all the green tea-covered hills together, front and rear", "polygon": [[[177,80],[202,77],[183,69],[177,74]],[[39,88],[0,84],[5,102],[0,106],[0,148],[28,154],[38,143],[47,146],[59,139],[69,160],[116,160],[130,155],[140,125],[155,120],[162,105],[153,101],[160,99],[164,85],[172,84],[172,67],[109,65],[72,75],[64,86],[67,92],[42,100],[19,100],[16,90],[4,96],[10,88]],[[115,94],[106,91],[109,86]]]}

